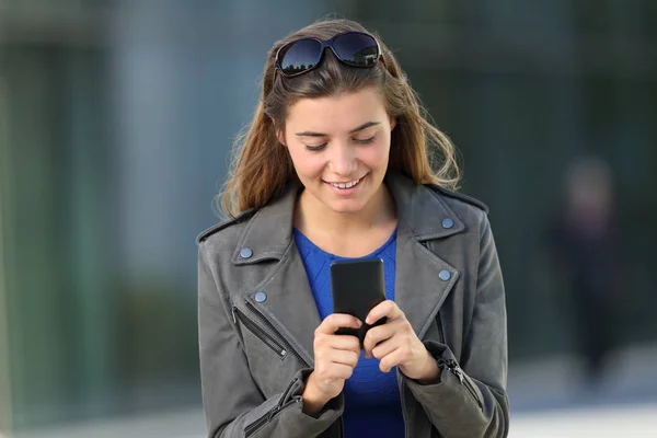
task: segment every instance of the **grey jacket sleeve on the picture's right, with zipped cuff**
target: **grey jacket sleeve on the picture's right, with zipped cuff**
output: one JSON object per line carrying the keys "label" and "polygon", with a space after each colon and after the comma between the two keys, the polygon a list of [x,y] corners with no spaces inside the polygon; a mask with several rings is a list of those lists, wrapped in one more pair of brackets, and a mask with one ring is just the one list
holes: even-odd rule
{"label": "grey jacket sleeve on the picture's right, with zipped cuff", "polygon": [[425,346],[440,368],[439,381],[420,384],[405,378],[415,399],[446,438],[506,437],[507,324],[504,283],[486,216],[482,222],[476,296],[461,364],[435,341]]}

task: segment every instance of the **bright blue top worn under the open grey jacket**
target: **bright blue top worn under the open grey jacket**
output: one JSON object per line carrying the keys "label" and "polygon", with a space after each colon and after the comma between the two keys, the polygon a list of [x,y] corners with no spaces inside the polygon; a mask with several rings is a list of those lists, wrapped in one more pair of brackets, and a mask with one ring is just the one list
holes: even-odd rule
{"label": "bright blue top worn under the open grey jacket", "polygon": [[[371,257],[383,260],[385,298],[394,300],[396,230],[380,249],[357,258],[330,254],[318,247],[296,228],[293,235],[322,320],[333,313],[330,266],[334,261]],[[404,417],[396,381],[396,367],[388,373],[381,372],[379,359],[366,359],[361,351],[354,373],[345,382],[343,393],[346,437],[404,437]]]}

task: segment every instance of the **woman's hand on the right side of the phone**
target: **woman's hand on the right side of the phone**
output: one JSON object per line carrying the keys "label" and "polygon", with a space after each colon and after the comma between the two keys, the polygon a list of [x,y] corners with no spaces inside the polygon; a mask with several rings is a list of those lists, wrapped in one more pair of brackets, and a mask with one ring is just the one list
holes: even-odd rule
{"label": "woman's hand on the right side of the phone", "polygon": [[394,301],[381,302],[369,312],[365,322],[373,324],[383,316],[388,316],[385,324],[368,330],[365,336],[365,357],[379,359],[379,368],[383,372],[396,366],[411,379],[423,383],[436,381],[439,373],[436,359],[427,351]]}

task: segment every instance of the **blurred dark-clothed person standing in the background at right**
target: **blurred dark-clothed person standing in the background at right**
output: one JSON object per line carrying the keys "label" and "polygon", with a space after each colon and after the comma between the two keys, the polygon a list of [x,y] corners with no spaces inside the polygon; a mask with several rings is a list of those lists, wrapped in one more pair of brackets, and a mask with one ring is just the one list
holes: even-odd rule
{"label": "blurred dark-clothed person standing in the background at right", "polygon": [[575,314],[576,346],[590,383],[603,376],[614,346],[621,278],[611,170],[599,157],[573,160],[565,173],[565,203],[551,230]]}

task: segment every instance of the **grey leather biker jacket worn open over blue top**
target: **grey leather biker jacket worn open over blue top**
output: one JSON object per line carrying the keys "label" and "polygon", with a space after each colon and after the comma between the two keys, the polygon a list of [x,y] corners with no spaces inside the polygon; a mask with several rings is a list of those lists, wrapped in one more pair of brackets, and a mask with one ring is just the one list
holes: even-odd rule
{"label": "grey leather biker jacket worn open over blue top", "polygon": [[[438,360],[440,381],[397,371],[406,437],[505,437],[505,293],[486,207],[390,173],[395,302]],[[320,325],[291,233],[296,186],[198,237],[203,400],[209,437],[342,437],[344,397],[302,412]]]}

